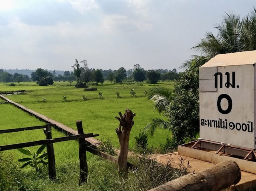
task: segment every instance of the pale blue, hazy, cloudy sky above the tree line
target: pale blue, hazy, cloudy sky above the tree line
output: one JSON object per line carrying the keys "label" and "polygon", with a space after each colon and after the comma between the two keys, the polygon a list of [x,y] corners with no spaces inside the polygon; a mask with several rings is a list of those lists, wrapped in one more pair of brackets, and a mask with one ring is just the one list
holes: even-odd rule
{"label": "pale blue, hazy, cloudy sky above the tree line", "polygon": [[0,0],[0,68],[178,69],[225,12],[255,0]]}

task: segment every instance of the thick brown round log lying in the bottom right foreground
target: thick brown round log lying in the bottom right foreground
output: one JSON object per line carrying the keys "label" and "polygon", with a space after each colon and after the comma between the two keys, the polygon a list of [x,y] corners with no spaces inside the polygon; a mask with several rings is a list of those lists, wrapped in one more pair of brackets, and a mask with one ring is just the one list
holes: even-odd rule
{"label": "thick brown round log lying in the bottom right foreground", "polygon": [[200,172],[169,181],[150,191],[218,191],[237,184],[240,179],[241,172],[237,163],[223,161]]}

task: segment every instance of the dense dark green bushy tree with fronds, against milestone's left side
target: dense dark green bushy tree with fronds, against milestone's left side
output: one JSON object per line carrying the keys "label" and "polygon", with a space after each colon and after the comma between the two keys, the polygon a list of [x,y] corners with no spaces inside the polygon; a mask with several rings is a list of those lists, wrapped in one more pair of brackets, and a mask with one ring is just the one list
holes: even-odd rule
{"label": "dense dark green bushy tree with fronds, against milestone's left side", "polygon": [[174,147],[184,138],[196,136],[199,131],[199,67],[208,60],[208,57],[195,57],[180,79],[174,82],[172,90],[164,87],[149,90],[149,98],[167,120],[152,119],[146,130],[153,134],[157,127],[168,128],[173,134]]}

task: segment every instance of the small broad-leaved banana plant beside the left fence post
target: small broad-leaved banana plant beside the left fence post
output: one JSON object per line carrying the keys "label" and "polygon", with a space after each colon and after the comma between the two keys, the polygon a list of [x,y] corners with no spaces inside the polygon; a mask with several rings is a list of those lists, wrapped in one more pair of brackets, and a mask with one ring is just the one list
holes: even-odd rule
{"label": "small broad-leaved banana plant beside the left fence post", "polygon": [[38,172],[42,166],[47,165],[48,162],[45,161],[48,158],[47,153],[44,152],[43,154],[41,154],[45,147],[46,147],[46,145],[40,146],[40,148],[36,151],[36,153],[32,153],[28,148],[17,149],[19,152],[21,152],[27,156],[30,156],[30,157],[18,159],[19,162],[25,162],[21,166],[21,168],[24,168],[27,165],[30,165],[31,167],[36,169],[36,172]]}

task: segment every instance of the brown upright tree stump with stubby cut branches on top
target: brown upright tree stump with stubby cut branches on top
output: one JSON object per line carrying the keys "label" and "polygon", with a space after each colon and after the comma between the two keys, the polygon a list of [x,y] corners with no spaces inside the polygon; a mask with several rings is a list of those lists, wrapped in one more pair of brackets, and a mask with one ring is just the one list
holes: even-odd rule
{"label": "brown upright tree stump with stubby cut branches on top", "polygon": [[118,173],[127,177],[127,157],[129,148],[129,138],[132,126],[134,124],[133,117],[136,115],[131,110],[126,109],[124,115],[121,112],[118,113],[120,117],[116,116],[116,119],[120,122],[119,127],[116,128],[116,134],[119,140],[120,152],[118,154]]}

